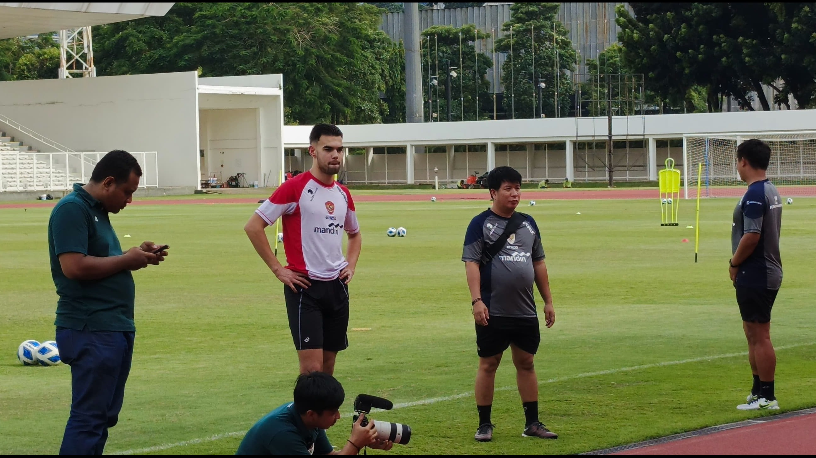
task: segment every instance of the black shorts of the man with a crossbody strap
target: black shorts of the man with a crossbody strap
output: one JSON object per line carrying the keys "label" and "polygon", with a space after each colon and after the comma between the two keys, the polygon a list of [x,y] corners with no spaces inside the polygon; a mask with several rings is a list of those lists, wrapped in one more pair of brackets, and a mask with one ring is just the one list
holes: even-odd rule
{"label": "black shorts of the man with a crossbody strap", "polygon": [[540,342],[538,318],[490,316],[487,326],[476,325],[476,349],[481,358],[499,355],[510,344],[535,355]]}

